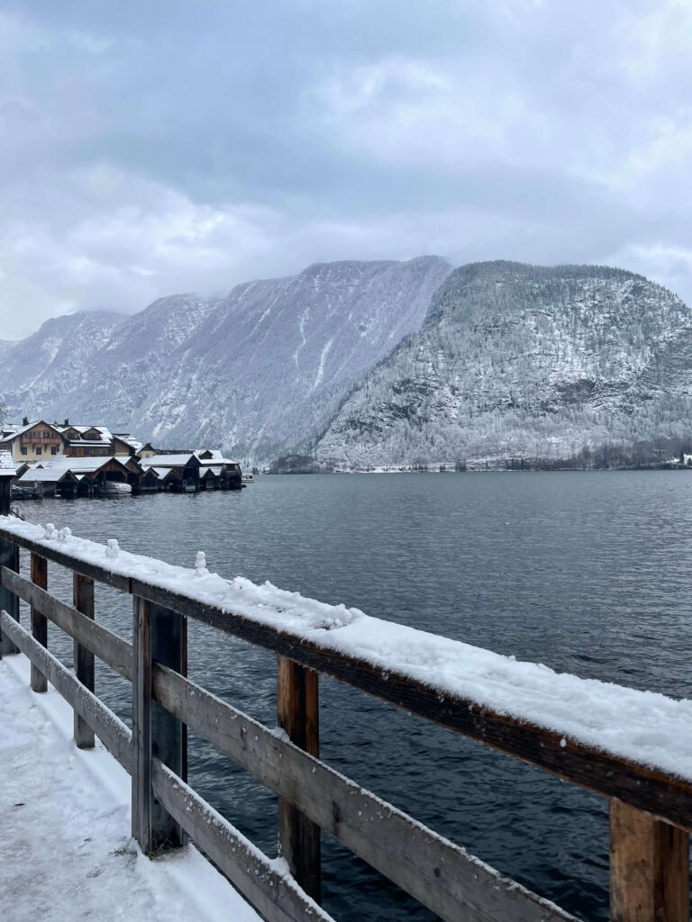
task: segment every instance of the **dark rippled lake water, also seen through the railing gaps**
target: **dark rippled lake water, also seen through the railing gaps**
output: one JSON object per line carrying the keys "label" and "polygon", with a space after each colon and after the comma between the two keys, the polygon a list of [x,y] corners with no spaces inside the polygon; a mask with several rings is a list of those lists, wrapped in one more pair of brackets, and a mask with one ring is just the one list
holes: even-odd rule
{"label": "dark rippled lake water, also seen through the railing gaps", "polygon": [[[25,502],[30,521],[224,576],[269,580],[370,615],[580,676],[692,695],[692,474],[684,471],[260,477],[241,493]],[[66,573],[51,589],[70,597]],[[131,599],[97,585],[131,637]],[[24,617],[22,620],[25,621]],[[26,621],[25,621],[26,623]],[[51,629],[66,662],[71,647]],[[275,660],[190,625],[189,673],[274,726]],[[129,688],[97,667],[129,722]],[[527,765],[322,679],[322,758],[584,919],[608,917],[607,805]],[[276,802],[202,740],[193,786],[276,854]],[[433,918],[327,837],[340,920]]]}

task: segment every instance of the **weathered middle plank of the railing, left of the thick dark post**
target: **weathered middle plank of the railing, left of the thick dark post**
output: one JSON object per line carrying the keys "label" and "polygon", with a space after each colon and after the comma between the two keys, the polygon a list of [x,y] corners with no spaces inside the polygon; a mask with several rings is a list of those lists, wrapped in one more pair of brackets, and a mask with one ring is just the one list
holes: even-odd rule
{"label": "weathered middle plank of the railing, left of the thick dark post", "polygon": [[62,631],[98,656],[107,666],[132,680],[132,646],[122,637],[91,621],[71,605],[54,598],[19,573],[0,567],[0,582],[9,591],[41,611]]}

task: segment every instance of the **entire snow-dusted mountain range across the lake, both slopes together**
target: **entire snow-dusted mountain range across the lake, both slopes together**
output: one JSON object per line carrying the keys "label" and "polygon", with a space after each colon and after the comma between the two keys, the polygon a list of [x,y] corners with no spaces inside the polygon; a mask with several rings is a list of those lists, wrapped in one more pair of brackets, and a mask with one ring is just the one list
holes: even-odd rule
{"label": "entire snow-dusted mountain range across the lake, both slopes together", "polygon": [[603,266],[310,266],[0,342],[7,415],[357,465],[692,435],[692,312]]}

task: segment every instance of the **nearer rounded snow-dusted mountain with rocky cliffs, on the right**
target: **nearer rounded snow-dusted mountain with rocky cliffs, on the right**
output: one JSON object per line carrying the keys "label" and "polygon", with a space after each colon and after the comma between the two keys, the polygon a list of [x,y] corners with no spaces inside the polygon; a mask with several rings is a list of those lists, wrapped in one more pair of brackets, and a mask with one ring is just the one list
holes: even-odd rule
{"label": "nearer rounded snow-dusted mountain with rocky cliffs, on the right", "polygon": [[692,434],[692,312],[603,266],[456,269],[420,332],[356,385],[320,458],[574,455]]}

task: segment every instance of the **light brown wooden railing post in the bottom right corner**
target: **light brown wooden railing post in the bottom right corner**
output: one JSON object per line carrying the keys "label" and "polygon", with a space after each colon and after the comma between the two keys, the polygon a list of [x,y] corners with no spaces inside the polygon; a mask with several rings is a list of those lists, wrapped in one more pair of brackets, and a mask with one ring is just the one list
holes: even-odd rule
{"label": "light brown wooden railing post in the bottom right corner", "polygon": [[610,801],[611,922],[689,922],[689,833]]}

